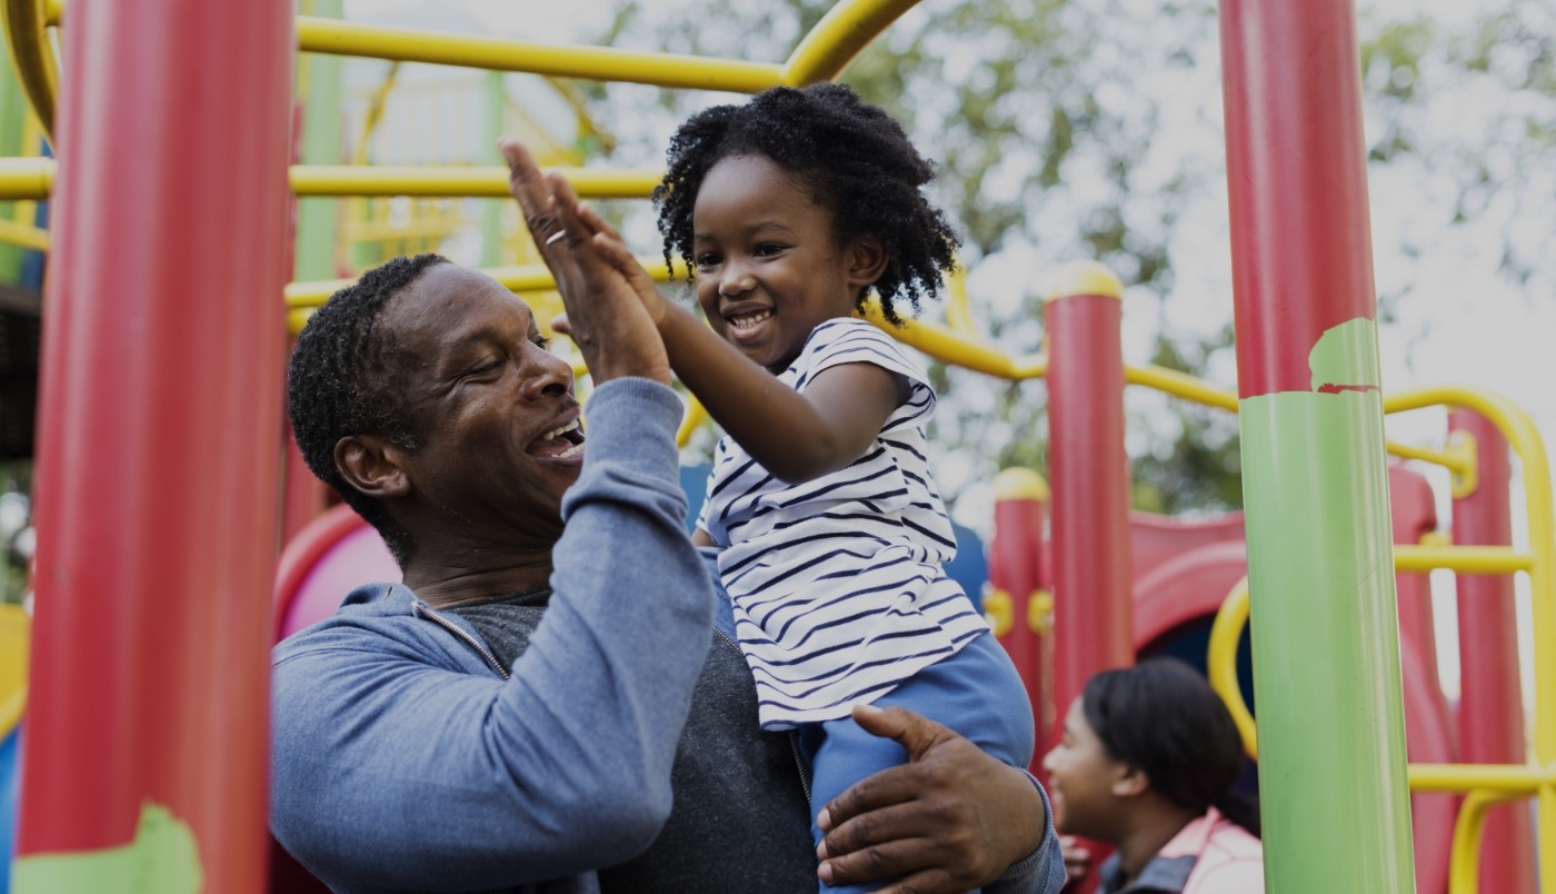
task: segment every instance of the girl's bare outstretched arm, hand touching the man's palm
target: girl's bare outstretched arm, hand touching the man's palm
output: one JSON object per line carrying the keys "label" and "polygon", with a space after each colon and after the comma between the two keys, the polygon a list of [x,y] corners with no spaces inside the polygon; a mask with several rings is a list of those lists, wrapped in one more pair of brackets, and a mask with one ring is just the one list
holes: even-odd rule
{"label": "girl's bare outstretched arm, hand touching the man's palm", "polygon": [[873,363],[828,368],[803,394],[784,386],[689,310],[666,299],[615,227],[593,209],[579,207],[579,216],[658,322],[680,380],[724,431],[781,481],[811,481],[864,456],[907,399],[907,382]]}

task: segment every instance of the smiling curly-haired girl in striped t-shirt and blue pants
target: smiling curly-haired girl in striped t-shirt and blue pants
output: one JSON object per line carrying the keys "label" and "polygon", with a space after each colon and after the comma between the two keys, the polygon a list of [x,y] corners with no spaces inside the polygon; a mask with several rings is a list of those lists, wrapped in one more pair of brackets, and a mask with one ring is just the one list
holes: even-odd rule
{"label": "smiling curly-haired girl in striped t-shirt and blue pants", "polygon": [[798,729],[814,808],[906,760],[851,720],[856,704],[910,707],[1015,766],[1032,758],[1016,670],[943,570],[955,539],[924,449],[935,394],[854,318],[871,287],[892,322],[938,293],[955,237],[920,192],[932,176],[843,86],[692,115],[655,199],[708,326],[585,212],[724,427],[697,540],[719,548],[762,727]]}

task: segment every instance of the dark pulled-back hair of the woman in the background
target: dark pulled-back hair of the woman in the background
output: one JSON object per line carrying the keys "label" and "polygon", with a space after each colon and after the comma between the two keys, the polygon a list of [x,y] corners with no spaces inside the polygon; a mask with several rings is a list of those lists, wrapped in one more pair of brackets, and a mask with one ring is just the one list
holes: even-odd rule
{"label": "dark pulled-back hair of the woman in the background", "polygon": [[1108,754],[1144,771],[1167,801],[1215,807],[1259,835],[1259,804],[1232,791],[1243,768],[1237,724],[1193,668],[1153,659],[1103,671],[1086,682],[1081,709]]}

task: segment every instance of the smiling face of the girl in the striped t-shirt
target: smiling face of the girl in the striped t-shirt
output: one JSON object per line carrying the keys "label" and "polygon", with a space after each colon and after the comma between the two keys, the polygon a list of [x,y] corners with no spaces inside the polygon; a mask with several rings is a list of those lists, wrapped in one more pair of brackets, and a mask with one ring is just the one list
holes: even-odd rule
{"label": "smiling face of the girl in the striped t-shirt", "polygon": [[717,162],[692,207],[697,302],[713,330],[772,372],[811,332],[854,311],[881,274],[881,243],[839,246],[832,213],[766,156]]}

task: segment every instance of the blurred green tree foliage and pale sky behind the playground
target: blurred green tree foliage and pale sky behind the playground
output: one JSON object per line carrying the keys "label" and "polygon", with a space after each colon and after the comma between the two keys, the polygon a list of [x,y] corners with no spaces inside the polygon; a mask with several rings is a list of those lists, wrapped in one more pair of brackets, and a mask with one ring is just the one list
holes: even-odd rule
{"label": "blurred green tree foliage and pale sky behind the playground", "polygon": [[[831,6],[626,2],[605,42],[781,62]],[[1522,204],[1511,210],[1498,202],[1506,201],[1509,176],[1553,167],[1550,5],[1508,0],[1444,23],[1414,12],[1385,17],[1363,2],[1360,34],[1374,168],[1430,174],[1435,188],[1455,193],[1447,202],[1452,216],[1432,238],[1452,238],[1452,226],[1497,212],[1505,266],[1531,276],[1556,232],[1556,221],[1539,229],[1531,216],[1550,213],[1551,193],[1514,199]],[[937,198],[960,223],[972,313],[991,343],[1013,354],[1036,350],[1044,271],[1094,259],[1127,287],[1127,361],[1209,375],[1231,388],[1218,62],[1215,5],[1207,2],[926,0],[842,79],[892,111],[941,164]],[[1447,87],[1516,97],[1492,120],[1503,131],[1522,129],[1519,146],[1503,148],[1506,132],[1450,134],[1444,142],[1441,109],[1425,98]],[[655,164],[689,111],[731,101],[641,87],[602,89],[598,97],[624,145],[638,146],[626,150],[632,164]],[[1544,235],[1530,235],[1534,231]],[[629,234],[652,245],[644,224]],[[1428,251],[1432,238],[1405,231],[1379,251],[1408,257]],[[1408,277],[1396,279],[1380,277],[1385,322],[1413,288]],[[1206,293],[1215,293],[1211,313],[1203,310]],[[932,436],[957,459],[940,466],[948,494],[972,494],[1004,466],[1044,470],[1043,385],[938,366],[932,377],[943,396]],[[1240,505],[1234,419],[1133,389],[1127,411],[1139,508],[1204,512]]]}

